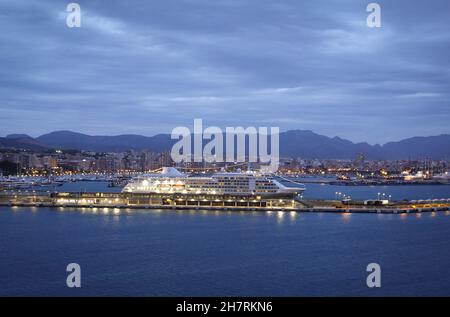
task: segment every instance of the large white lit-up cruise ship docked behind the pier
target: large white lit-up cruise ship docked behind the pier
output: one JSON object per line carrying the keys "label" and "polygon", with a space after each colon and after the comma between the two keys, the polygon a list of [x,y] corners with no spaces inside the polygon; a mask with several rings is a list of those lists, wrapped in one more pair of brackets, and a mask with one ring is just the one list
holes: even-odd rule
{"label": "large white lit-up cruise ship docked behind the pier", "polygon": [[208,176],[190,176],[174,167],[164,167],[159,174],[147,174],[133,179],[122,192],[295,199],[304,190],[303,184],[292,183],[292,186],[285,186],[272,177],[255,172],[220,172]]}

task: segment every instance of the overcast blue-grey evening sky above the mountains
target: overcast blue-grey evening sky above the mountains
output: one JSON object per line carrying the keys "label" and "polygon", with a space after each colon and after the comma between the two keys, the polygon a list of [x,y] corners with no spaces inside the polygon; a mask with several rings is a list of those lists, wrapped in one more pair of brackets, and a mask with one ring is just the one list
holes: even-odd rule
{"label": "overcast blue-grey evening sky above the mountains", "polygon": [[450,3],[0,0],[0,135],[204,125],[384,143],[449,133]]}

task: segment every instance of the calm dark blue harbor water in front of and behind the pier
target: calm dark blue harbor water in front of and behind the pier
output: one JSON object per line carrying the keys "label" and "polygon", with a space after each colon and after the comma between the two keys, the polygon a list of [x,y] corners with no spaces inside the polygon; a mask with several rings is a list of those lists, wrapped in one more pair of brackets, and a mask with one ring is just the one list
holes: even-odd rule
{"label": "calm dark blue harbor water in front of and behind the pier", "polygon": [[[0,295],[450,296],[449,232],[448,212],[0,207]],[[72,262],[81,265],[80,289],[65,284]],[[381,265],[380,289],[366,286],[372,262]]]}

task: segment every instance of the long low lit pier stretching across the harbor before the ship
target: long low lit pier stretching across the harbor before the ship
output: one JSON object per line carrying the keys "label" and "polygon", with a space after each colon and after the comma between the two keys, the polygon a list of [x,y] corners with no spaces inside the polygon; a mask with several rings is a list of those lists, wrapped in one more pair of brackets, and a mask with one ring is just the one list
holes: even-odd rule
{"label": "long low lit pier stretching across the harbor before the ship", "polygon": [[292,197],[202,196],[131,193],[0,192],[0,206],[321,213],[405,214],[449,212],[450,200],[401,201],[364,205],[362,201],[295,200]]}

